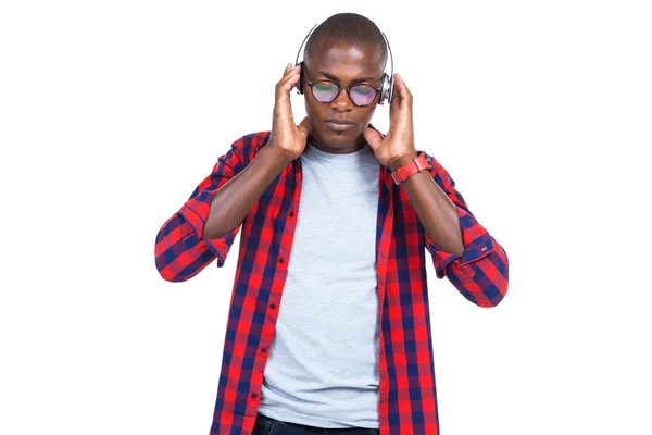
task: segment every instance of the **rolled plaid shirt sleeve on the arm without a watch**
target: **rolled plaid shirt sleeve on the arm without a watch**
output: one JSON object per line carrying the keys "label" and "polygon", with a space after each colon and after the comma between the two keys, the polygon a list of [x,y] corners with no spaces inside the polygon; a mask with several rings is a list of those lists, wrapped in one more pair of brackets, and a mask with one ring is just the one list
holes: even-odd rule
{"label": "rolled plaid shirt sleeve on the arm without a watch", "polygon": [[195,188],[190,198],[165,221],[156,234],[155,264],[165,281],[188,281],[215,259],[217,268],[224,265],[241,225],[215,239],[204,237],[203,227],[215,191],[242,170],[241,144],[242,138],[217,159],[211,174]]}

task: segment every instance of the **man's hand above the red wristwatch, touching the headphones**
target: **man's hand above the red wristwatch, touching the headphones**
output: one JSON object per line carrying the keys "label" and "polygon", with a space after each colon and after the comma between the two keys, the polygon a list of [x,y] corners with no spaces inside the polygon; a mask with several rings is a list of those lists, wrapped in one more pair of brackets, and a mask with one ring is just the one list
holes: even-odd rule
{"label": "man's hand above the red wristwatch, touching the headphones", "polygon": [[398,73],[394,74],[393,87],[389,105],[389,132],[385,139],[381,139],[373,128],[365,128],[363,134],[380,164],[396,171],[412,159],[416,159],[418,154],[414,148],[412,92]]}

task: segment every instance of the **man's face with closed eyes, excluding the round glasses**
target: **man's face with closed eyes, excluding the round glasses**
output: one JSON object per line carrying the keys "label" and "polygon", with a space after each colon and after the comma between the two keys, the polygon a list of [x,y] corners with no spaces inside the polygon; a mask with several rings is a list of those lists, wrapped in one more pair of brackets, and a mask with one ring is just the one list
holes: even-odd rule
{"label": "man's face with closed eyes, excluding the round glasses", "polygon": [[[356,107],[342,88],[334,101],[319,102],[313,97],[308,82],[327,79],[338,85],[366,84],[380,89],[384,65],[379,57],[374,45],[351,46],[324,38],[315,46],[304,62],[303,89],[305,112],[312,127],[309,141],[316,148],[338,154],[361,149],[366,144],[362,133],[374,115],[380,96],[377,95],[369,105]],[[341,130],[327,122],[333,119],[343,119],[353,125]]]}

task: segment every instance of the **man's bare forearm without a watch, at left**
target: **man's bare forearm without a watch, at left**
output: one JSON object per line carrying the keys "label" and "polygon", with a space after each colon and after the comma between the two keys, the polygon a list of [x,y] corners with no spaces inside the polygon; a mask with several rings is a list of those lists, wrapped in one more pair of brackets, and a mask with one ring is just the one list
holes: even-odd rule
{"label": "man's bare forearm without a watch, at left", "polygon": [[238,227],[272,181],[291,162],[281,150],[269,145],[213,196],[203,235],[217,238]]}

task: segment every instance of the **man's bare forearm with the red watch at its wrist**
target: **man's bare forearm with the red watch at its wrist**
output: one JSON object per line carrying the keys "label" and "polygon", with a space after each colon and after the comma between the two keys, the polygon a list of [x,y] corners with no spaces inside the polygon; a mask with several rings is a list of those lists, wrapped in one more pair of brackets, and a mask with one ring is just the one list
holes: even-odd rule
{"label": "man's bare forearm with the red watch at its wrist", "polygon": [[[393,162],[391,171],[416,159],[417,154],[409,156]],[[457,210],[448,195],[432,181],[428,171],[418,172],[403,183],[405,190],[424,231],[441,250],[462,256],[464,241],[460,228]]]}

